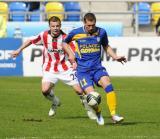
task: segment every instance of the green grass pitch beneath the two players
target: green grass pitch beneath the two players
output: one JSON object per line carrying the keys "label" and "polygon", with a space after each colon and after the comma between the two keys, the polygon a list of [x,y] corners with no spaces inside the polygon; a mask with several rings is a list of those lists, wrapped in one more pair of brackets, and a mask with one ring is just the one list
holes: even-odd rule
{"label": "green grass pitch beneath the two players", "polygon": [[0,139],[160,139],[160,77],[113,77],[118,113],[113,125],[102,94],[104,126],[87,118],[72,88],[59,82],[61,100],[55,117],[41,94],[41,78],[0,77]]}

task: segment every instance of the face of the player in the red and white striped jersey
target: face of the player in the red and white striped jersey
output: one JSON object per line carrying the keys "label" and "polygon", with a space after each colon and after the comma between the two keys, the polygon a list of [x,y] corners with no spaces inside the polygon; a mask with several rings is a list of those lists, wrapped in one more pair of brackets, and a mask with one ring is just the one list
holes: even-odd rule
{"label": "face of the player in the red and white striped jersey", "polygon": [[52,36],[58,36],[60,34],[61,24],[60,22],[50,22],[50,30]]}

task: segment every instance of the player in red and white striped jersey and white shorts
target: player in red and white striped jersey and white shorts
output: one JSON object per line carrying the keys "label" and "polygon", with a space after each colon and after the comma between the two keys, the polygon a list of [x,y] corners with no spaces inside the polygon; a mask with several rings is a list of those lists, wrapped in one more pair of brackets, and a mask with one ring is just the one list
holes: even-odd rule
{"label": "player in red and white striped jersey and white shorts", "polygon": [[[78,80],[75,76],[71,63],[69,62],[66,53],[63,51],[62,42],[66,34],[61,30],[61,21],[58,17],[53,16],[49,19],[50,30],[41,32],[39,35],[32,37],[22,44],[22,46],[12,52],[11,56],[16,57],[19,53],[30,46],[35,44],[43,46],[43,78],[42,78],[42,93],[52,101],[52,106],[49,111],[49,116],[55,115],[56,108],[60,105],[57,96],[54,95],[53,88],[58,80],[63,81],[65,84],[72,86],[75,92],[79,95],[87,114],[90,119],[95,119],[96,115],[93,109],[88,106],[83,91],[79,86]],[[74,47],[71,44],[72,48]],[[73,48],[74,49],[74,48]]]}

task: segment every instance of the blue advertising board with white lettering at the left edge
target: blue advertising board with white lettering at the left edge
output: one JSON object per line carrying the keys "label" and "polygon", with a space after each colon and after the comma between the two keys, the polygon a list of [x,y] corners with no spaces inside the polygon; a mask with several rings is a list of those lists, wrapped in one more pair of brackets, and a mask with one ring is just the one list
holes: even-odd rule
{"label": "blue advertising board with white lettering at the left edge", "polygon": [[22,53],[11,58],[10,53],[22,44],[22,39],[4,38],[0,39],[0,76],[22,76],[23,61]]}

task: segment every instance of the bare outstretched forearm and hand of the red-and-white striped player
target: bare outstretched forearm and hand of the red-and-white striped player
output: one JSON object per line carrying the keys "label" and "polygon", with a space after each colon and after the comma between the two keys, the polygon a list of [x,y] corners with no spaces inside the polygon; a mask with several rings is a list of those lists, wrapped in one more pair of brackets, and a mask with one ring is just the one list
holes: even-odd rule
{"label": "bare outstretched forearm and hand of the red-and-white striped player", "polygon": [[28,47],[29,45],[31,45],[32,44],[32,42],[30,41],[30,40],[27,40],[26,42],[24,42],[23,44],[22,44],[22,46],[20,46],[17,50],[15,50],[15,51],[13,51],[12,53],[11,53],[11,57],[17,57],[20,53],[21,53],[21,51],[23,50],[23,49],[25,49],[26,47]]}

